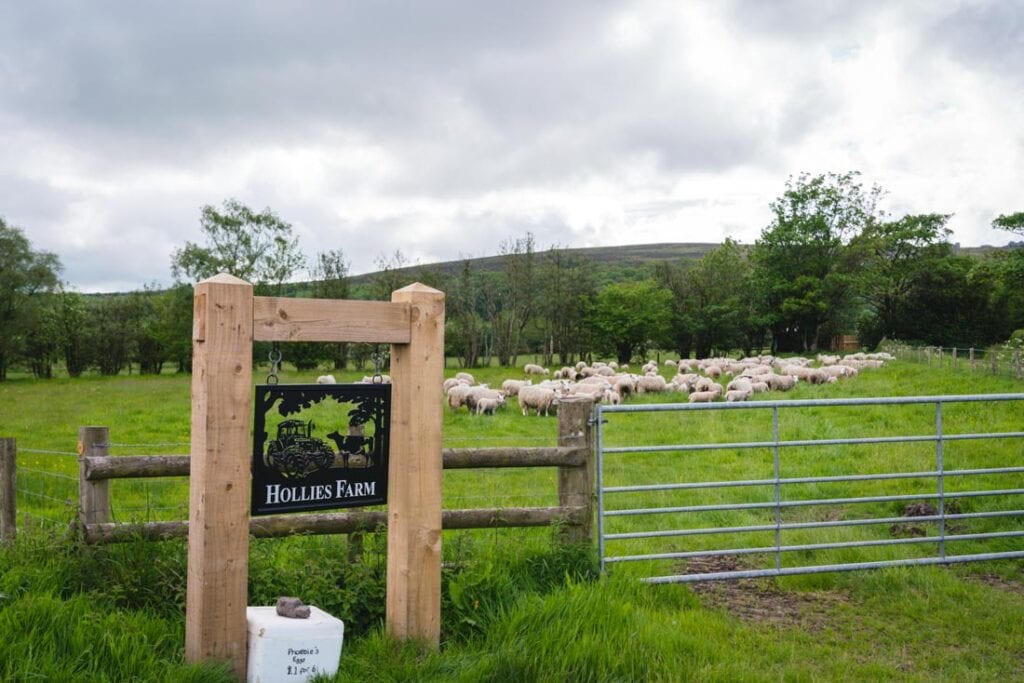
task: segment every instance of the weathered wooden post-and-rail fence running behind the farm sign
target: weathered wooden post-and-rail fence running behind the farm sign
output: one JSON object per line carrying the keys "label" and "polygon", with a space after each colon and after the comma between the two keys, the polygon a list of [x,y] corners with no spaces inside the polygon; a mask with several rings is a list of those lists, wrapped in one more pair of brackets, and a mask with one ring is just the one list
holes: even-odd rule
{"label": "weathered wooden post-and-rail fence running behind the farm sign", "polygon": [[[558,468],[558,502],[551,507],[473,508],[443,510],[445,529],[504,528],[557,525],[566,543],[589,542],[593,529],[594,449],[593,402],[564,399],[558,409],[558,445],[544,447],[446,449],[444,469],[506,467]],[[102,430],[102,431],[100,431]],[[188,536],[187,521],[123,523],[111,521],[111,479],[188,476],[188,456],[117,456],[105,453],[105,427],[83,427],[79,457],[80,517],[87,543],[161,540]],[[100,440],[101,439],[101,440]],[[96,455],[94,455],[96,454]],[[271,515],[249,520],[255,538],[293,535],[360,533],[387,527],[384,511]]]}

